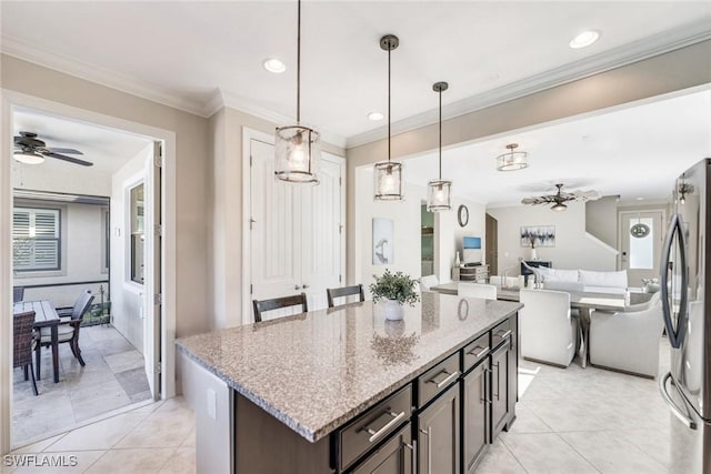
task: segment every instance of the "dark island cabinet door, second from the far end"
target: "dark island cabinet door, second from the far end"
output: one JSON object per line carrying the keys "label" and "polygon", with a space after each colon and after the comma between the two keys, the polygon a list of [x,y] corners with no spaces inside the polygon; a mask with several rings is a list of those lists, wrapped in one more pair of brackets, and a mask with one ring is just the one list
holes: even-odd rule
{"label": "dark island cabinet door, second from the far end", "polygon": [[462,446],[465,472],[474,472],[477,462],[485,452],[489,433],[489,404],[487,403],[489,359],[482,361],[462,380]]}

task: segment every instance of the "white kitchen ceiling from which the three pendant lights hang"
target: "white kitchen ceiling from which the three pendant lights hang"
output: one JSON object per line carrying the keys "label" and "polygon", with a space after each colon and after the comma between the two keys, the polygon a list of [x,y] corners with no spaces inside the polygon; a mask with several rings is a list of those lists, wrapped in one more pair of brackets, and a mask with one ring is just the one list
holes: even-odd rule
{"label": "white kitchen ceiling from which the three pendant lights hang", "polygon": [[[3,0],[0,8],[7,53],[206,117],[228,104],[294,119],[296,1]],[[477,108],[478,98],[711,37],[710,24],[709,1],[304,1],[302,120],[334,143],[382,137],[385,121],[367,114],[387,112],[385,33],[401,40],[392,52],[398,131],[435,120],[435,81],[450,83],[448,117]],[[601,32],[597,43],[569,48],[591,28]],[[270,57],[287,72],[267,72]]]}

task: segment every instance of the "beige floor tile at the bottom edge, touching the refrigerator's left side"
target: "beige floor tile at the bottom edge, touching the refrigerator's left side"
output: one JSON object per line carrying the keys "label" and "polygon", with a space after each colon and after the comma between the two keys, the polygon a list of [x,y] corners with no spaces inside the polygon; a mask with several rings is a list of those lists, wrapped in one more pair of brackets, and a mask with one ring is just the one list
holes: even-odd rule
{"label": "beige floor tile at the bottom edge, touching the refrigerator's left side", "polygon": [[561,433],[560,436],[601,473],[662,474],[668,470],[614,431]]}

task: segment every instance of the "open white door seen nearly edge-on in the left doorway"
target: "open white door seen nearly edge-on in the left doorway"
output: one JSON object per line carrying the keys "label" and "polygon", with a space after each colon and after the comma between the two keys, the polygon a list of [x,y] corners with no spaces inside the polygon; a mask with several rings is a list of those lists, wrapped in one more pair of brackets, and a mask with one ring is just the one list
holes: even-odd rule
{"label": "open white door seen nearly edge-on in the left doorway", "polygon": [[161,397],[161,142],[153,143],[153,159],[146,163],[146,280],[143,295],[143,359],[153,400]]}

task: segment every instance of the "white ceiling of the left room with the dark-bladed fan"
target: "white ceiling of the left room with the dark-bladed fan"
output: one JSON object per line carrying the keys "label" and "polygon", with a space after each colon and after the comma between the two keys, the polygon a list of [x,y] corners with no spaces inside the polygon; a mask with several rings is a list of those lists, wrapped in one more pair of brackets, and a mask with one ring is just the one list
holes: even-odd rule
{"label": "white ceiling of the left room with the dark-bladed fan", "polygon": [[53,158],[47,158],[41,165],[16,163],[17,167],[22,167],[27,172],[41,171],[53,175],[71,172],[78,180],[110,177],[151,143],[143,137],[30,109],[13,111],[13,135],[20,131],[37,133],[48,148],[79,150],[83,155],[69,155],[92,162],[93,167],[81,167]]}

